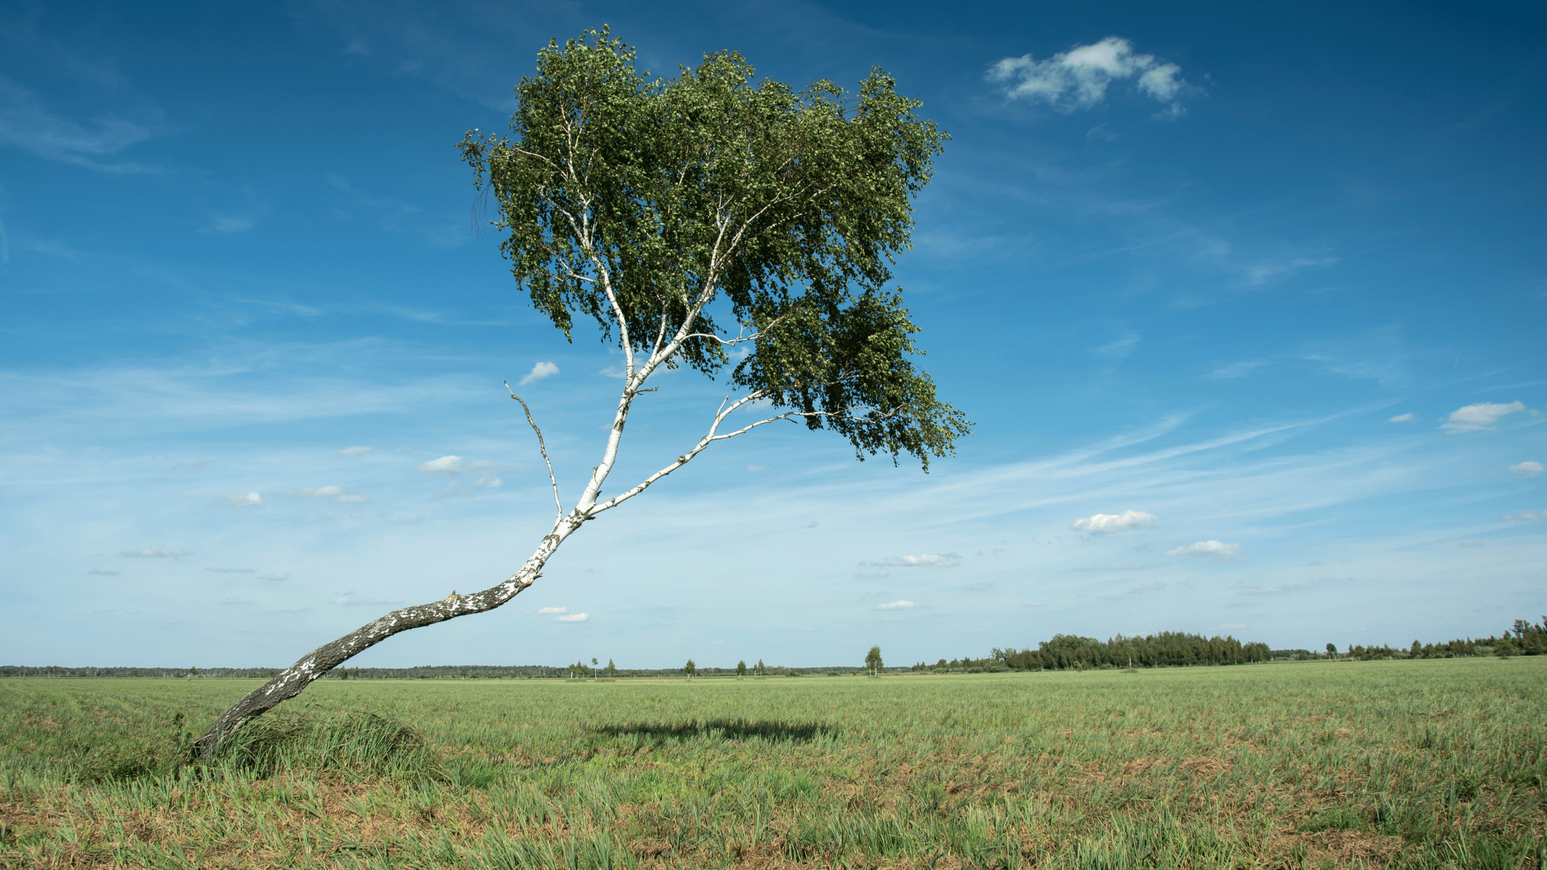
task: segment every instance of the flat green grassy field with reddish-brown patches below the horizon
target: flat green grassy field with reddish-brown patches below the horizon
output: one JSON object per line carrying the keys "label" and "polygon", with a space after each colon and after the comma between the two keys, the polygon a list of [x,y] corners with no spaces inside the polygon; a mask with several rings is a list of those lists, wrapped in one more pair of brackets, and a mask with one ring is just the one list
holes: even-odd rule
{"label": "flat green grassy field with reddish-brown patches below the horizon", "polygon": [[0,681],[0,867],[1542,870],[1547,656],[325,681],[175,766],[252,686]]}

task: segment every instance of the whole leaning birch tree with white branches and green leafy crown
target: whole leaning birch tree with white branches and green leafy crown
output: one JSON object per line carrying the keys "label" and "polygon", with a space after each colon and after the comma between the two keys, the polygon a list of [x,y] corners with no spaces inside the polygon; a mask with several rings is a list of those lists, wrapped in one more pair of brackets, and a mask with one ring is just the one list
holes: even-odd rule
{"label": "whole leaning birch tree with white branches and green leafy crown", "polygon": [[[968,432],[914,367],[919,328],[893,257],[910,246],[911,198],[947,138],[880,70],[846,93],[755,82],[736,53],[651,77],[606,29],[538,53],[515,88],[507,136],[469,132],[461,156],[498,203],[500,246],[532,305],[572,341],[593,319],[623,356],[602,455],[569,506],[543,433],[552,528],[493,587],[394,610],[323,644],[251,692],[195,743],[210,757],[243,721],[387,638],[506,604],[588,520],[634,498],[716,441],[780,421],[848,438],[855,455],[908,454],[928,471]],[[727,375],[698,441],[602,498],[636,401],[664,368]],[[727,372],[729,368],[729,372]],[[741,412],[741,413],[738,413]],[[732,420],[735,415],[735,420]]]}

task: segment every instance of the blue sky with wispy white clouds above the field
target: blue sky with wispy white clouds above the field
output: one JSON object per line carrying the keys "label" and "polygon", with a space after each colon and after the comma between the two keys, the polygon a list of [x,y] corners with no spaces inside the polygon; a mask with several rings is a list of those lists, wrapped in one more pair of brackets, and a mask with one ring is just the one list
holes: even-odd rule
{"label": "blue sky with wispy white clouds above the field", "polygon": [[[504,608],[356,664],[1547,611],[1539,6],[941,9],[6,3],[0,659],[282,666],[521,563],[551,497],[500,382],[572,497],[617,356],[523,302],[453,146],[603,22],[650,70],[733,48],[924,101],[953,139],[896,276],[975,433],[930,474],[795,426],[716,444]],[[718,396],[668,376],[614,481]]]}

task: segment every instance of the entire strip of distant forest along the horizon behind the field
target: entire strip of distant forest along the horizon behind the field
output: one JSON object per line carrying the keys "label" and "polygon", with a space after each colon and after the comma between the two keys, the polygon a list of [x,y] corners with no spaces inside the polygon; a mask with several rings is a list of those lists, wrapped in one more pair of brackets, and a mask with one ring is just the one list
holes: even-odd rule
{"label": "entire strip of distant forest along the horizon behind the field", "polygon": [[[1262,642],[1242,642],[1231,636],[1205,638],[1185,632],[1162,632],[1143,638],[1117,635],[1106,641],[1077,635],[1054,635],[1036,649],[993,649],[984,658],[939,659],[934,664],[919,663],[910,667],[886,667],[888,672],[930,673],[990,673],[1006,670],[1078,670],[1103,667],[1196,667],[1250,664],[1264,661],[1315,661],[1315,659],[1403,659],[1403,658],[1457,658],[1457,656],[1513,656],[1547,653],[1547,616],[1541,624],[1516,619],[1515,625],[1496,638],[1460,638],[1425,644],[1412,641],[1408,647],[1351,646],[1338,650],[1327,644],[1326,650],[1273,650]],[[594,663],[596,659],[593,659]],[[860,675],[863,666],[784,667],[763,666],[752,669],[760,676],[843,676]],[[696,676],[736,676],[735,667],[695,667]],[[26,667],[0,666],[0,676],[248,676],[268,680],[278,673],[275,667]],[[639,678],[682,676],[681,667],[627,669],[588,667],[575,663],[566,667],[546,664],[493,666],[493,664],[438,664],[421,667],[340,667],[328,673],[330,680],[586,680],[586,678]]]}

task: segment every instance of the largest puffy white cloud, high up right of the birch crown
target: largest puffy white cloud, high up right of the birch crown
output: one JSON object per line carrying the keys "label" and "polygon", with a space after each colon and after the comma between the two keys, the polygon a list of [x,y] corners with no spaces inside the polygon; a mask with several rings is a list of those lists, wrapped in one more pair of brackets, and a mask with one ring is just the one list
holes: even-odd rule
{"label": "largest puffy white cloud, high up right of the birch crown", "polygon": [[1162,115],[1174,118],[1182,113],[1176,102],[1188,88],[1182,68],[1157,62],[1153,54],[1134,54],[1132,43],[1115,36],[1047,60],[1035,60],[1030,54],[1006,57],[989,67],[987,79],[999,84],[1010,99],[1040,99],[1069,113],[1100,104],[1106,99],[1108,84],[1134,76],[1139,76],[1140,93],[1166,104]]}

